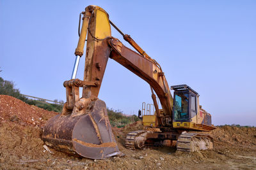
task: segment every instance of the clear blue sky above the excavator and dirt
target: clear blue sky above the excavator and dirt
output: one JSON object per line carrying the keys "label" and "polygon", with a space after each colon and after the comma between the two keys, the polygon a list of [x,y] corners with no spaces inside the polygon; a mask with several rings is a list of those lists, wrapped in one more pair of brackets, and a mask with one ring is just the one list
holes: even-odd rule
{"label": "clear blue sky above the excavator and dirt", "polygon": [[[195,89],[213,124],[256,125],[256,1],[1,0],[0,76],[22,94],[65,101],[79,13],[90,4],[161,64],[169,85]],[[84,56],[80,79],[83,67]],[[99,98],[126,114],[152,103],[148,84],[111,59]]]}

